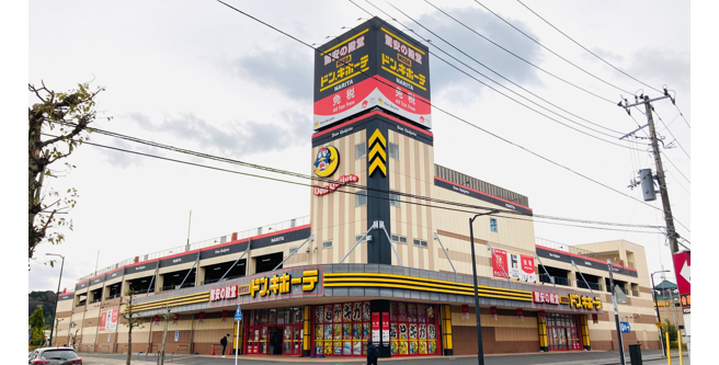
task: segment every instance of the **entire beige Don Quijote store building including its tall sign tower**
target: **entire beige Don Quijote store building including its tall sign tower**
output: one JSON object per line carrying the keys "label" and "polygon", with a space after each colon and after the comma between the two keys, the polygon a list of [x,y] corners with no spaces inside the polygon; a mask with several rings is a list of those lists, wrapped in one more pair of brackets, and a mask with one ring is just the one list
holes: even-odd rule
{"label": "entire beige Don Quijote store building including its tall sign tower", "polygon": [[468,215],[425,196],[524,216],[473,224],[484,353],[617,349],[607,260],[628,297],[625,345],[660,347],[642,247],[536,238],[527,196],[434,161],[425,46],[375,18],[319,50],[309,215],[83,277],[60,296],[57,343],[126,352],[132,292],[145,321],[132,352],[159,351],[169,311],[167,353],[219,354],[230,334],[241,355],[476,354]]}

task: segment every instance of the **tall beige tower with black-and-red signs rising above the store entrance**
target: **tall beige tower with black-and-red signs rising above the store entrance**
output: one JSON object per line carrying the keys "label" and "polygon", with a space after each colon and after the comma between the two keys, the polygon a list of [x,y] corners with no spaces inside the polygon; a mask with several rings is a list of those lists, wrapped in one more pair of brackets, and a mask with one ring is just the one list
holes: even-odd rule
{"label": "tall beige tower with black-and-red signs rising above the store entrance", "polygon": [[373,18],[318,50],[311,168],[330,181],[312,190],[310,263],[432,261],[407,249],[434,244],[431,209],[396,194],[431,195],[429,48]]}

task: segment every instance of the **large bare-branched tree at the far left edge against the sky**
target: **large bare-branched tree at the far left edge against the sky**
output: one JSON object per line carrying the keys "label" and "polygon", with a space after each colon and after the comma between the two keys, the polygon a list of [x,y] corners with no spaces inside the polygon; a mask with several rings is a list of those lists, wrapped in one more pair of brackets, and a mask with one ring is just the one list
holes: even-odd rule
{"label": "large bare-branched tree at the far left edge against the sky", "polygon": [[[31,94],[38,102],[27,109],[27,259],[33,259],[35,248],[43,240],[59,244],[65,235],[59,231],[48,233],[48,229],[67,227],[72,229],[72,220],[65,217],[77,204],[78,192],[73,187],[60,193],[49,189],[43,190],[45,178],[58,178],[75,166],[65,162],[65,167],[50,169],[50,166],[70,156],[77,147],[90,138],[90,124],[95,121],[95,96],[103,91],[90,91],[89,83],[78,84],[77,90],[55,92],[43,83],[42,88],[27,84]],[[112,117],[107,117],[107,121]],[[53,261],[50,261],[53,264]]]}

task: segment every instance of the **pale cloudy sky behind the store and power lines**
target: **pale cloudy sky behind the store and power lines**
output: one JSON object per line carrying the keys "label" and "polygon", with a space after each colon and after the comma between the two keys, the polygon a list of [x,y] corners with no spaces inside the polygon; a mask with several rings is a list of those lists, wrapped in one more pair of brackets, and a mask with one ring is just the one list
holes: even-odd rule
{"label": "pale cloudy sky behind the store and power lines", "polygon": [[[322,44],[328,37],[342,34],[342,27],[360,24],[360,18],[369,18],[350,1],[228,2],[308,44]],[[676,91],[678,110],[692,123],[688,1],[523,2],[628,75],[657,89],[667,84]],[[632,101],[631,94],[641,92],[642,88],[652,98],[659,96],[655,91],[590,55],[516,1],[482,0],[481,3],[593,76],[540,47],[470,0],[431,1],[456,21],[421,1],[389,2],[411,19],[384,0],[372,3],[389,15],[364,0],[355,3],[373,15],[395,19],[392,23],[408,28],[406,32],[412,30],[431,39],[433,53],[504,94],[431,56],[432,102],[437,107],[641,198],[638,190],[626,186],[639,168],[653,169],[653,162],[648,152],[621,147],[629,145],[618,140],[618,133],[631,132],[637,125],[616,102],[620,94]],[[650,3],[651,11],[647,12]],[[99,111],[114,119],[99,122],[96,127],[306,174],[310,171],[312,133],[312,57],[311,49],[216,1],[30,2],[28,82],[38,84],[43,80],[55,90],[68,90],[78,82],[91,80],[93,85],[105,87],[106,91],[98,98]],[[34,103],[32,95],[27,95],[27,103]],[[661,132],[664,141],[669,144],[676,138],[673,145],[681,145],[691,156],[691,129],[678,116],[677,109],[666,100],[654,106],[669,124],[669,130]],[[634,110],[631,115],[642,125],[646,123],[639,110]],[[536,214],[663,225],[659,210],[437,110],[433,118],[436,163],[528,196]],[[664,126],[658,123],[658,128]],[[101,135],[93,135],[92,141],[254,172]],[[636,140],[631,147],[644,150],[643,141]],[[691,160],[680,147],[664,153],[673,162],[664,163],[674,215],[692,229],[691,184],[682,176],[692,180]],[[65,232],[67,241],[61,246],[38,248],[37,260],[31,262],[28,290],[53,289],[57,285],[58,270],[42,264],[47,261],[44,256],[47,252],[67,256],[61,286],[71,290],[78,277],[94,271],[98,250],[99,266],[104,267],[184,244],[190,210],[191,242],[309,214],[309,193],[301,186],[92,146],[80,148],[72,155],[71,163],[78,169],[62,179],[52,180],[50,186],[59,191],[69,186],[78,189],[79,204],[71,212],[75,230]],[[659,199],[650,205],[661,207]],[[670,250],[660,235],[545,223],[537,223],[535,231],[539,238],[569,244],[626,239],[646,248],[651,271],[660,270],[661,263],[671,269]],[[687,229],[678,226],[678,232],[692,240]]]}

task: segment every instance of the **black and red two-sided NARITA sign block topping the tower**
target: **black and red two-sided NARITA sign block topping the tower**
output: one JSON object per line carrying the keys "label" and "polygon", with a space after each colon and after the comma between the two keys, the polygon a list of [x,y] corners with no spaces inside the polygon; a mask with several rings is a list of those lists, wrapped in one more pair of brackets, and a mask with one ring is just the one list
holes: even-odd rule
{"label": "black and red two-sided NARITA sign block topping the tower", "polygon": [[373,18],[315,54],[315,129],[373,107],[432,127],[430,50]]}

